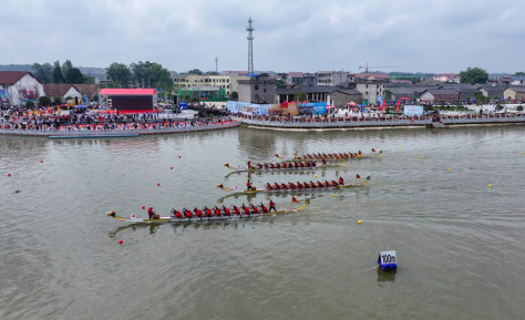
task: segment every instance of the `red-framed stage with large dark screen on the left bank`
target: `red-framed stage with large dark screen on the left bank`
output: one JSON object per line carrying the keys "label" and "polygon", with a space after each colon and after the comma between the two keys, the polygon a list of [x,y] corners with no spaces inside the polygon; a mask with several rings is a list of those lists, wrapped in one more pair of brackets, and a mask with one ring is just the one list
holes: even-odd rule
{"label": "red-framed stage with large dark screen on the left bank", "polygon": [[155,89],[102,89],[100,94],[111,109],[124,113],[152,112],[156,101]]}

